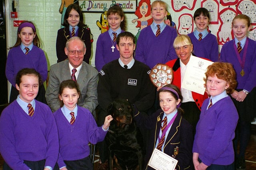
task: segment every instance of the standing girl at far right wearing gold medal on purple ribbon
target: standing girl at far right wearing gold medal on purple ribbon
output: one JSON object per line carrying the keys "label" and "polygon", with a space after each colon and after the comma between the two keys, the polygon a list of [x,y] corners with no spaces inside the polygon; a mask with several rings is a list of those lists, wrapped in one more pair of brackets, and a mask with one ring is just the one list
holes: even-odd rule
{"label": "standing girl at far right wearing gold medal on purple ribbon", "polygon": [[245,169],[244,154],[250,139],[250,122],[256,117],[256,41],[246,35],[251,29],[250,18],[244,14],[235,16],[232,31],[235,38],[225,43],[221,49],[220,60],[233,64],[238,86],[231,94],[239,114],[236,141],[240,141],[239,153],[236,145],[236,168]]}

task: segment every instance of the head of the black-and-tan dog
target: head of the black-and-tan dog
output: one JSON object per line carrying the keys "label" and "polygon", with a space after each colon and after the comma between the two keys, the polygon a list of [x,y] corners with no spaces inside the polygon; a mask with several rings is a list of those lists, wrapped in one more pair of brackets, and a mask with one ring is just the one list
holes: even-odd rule
{"label": "head of the black-and-tan dog", "polygon": [[131,124],[133,111],[130,102],[124,99],[116,99],[107,108],[108,115],[112,115],[117,124]]}

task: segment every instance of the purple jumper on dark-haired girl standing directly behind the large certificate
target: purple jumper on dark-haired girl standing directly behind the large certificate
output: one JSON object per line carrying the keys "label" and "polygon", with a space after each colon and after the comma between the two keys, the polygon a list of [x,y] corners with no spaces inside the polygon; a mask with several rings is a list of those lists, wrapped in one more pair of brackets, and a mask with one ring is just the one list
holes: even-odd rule
{"label": "purple jumper on dark-haired girl standing directly behind the large certificate", "polygon": [[194,32],[188,34],[193,44],[193,54],[213,62],[219,60],[219,46],[215,35],[208,33],[201,41],[196,39]]}

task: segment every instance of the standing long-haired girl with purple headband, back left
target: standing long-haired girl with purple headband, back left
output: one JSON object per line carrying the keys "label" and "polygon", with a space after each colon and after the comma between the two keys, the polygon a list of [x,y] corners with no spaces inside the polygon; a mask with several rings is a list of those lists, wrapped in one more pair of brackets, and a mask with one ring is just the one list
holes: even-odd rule
{"label": "standing long-haired girl with purple headband, back left", "polygon": [[[47,61],[40,45],[35,25],[30,21],[22,22],[18,27],[16,43],[10,47],[6,61],[5,75],[12,84],[9,103],[16,100],[19,94],[15,86],[16,75],[22,68],[34,68],[41,75],[42,83],[46,80]],[[36,100],[46,103],[43,84],[40,84]]]}

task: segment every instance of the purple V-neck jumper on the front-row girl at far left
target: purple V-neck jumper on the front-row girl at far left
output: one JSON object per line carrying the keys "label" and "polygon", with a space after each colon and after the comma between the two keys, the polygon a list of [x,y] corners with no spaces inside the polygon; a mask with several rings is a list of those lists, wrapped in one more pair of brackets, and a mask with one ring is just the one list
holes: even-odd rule
{"label": "purple V-neck jumper on the front-row girl at far left", "polygon": [[0,152],[12,169],[28,170],[23,160],[46,159],[45,166],[54,167],[58,158],[58,130],[50,107],[36,101],[30,117],[15,100],[0,117]]}

